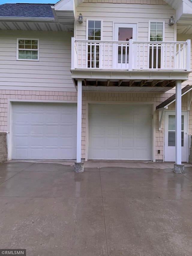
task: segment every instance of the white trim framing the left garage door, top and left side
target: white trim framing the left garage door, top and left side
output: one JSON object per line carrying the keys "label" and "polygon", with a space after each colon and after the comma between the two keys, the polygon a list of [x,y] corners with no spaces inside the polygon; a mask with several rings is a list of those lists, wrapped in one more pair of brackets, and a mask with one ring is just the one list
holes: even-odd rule
{"label": "white trim framing the left garage door, top and left side", "polygon": [[20,100],[20,99],[8,99],[7,100],[7,137],[8,137],[8,149],[7,149],[7,160],[12,159],[12,113],[13,107],[12,102],[36,102],[36,103],[77,103],[76,101],[56,101],[56,100]]}

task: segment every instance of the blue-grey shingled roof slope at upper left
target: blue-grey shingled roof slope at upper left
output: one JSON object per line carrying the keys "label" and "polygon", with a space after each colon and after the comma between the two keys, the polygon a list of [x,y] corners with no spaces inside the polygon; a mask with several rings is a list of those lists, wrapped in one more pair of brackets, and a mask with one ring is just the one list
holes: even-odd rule
{"label": "blue-grey shingled roof slope at upper left", "polygon": [[51,6],[54,4],[3,4],[0,17],[54,18]]}

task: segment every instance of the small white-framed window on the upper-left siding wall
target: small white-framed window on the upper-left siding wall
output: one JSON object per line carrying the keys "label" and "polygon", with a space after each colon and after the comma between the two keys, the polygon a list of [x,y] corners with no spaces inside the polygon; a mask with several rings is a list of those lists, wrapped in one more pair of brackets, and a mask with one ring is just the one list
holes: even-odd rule
{"label": "small white-framed window on the upper-left siding wall", "polygon": [[39,40],[17,39],[17,60],[39,60]]}

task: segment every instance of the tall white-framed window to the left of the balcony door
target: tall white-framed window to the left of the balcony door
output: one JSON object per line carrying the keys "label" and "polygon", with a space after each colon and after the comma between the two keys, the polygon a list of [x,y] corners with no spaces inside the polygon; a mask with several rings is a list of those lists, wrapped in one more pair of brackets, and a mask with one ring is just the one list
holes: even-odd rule
{"label": "tall white-framed window to the left of the balcony door", "polygon": [[[87,20],[87,39],[101,40],[101,20]],[[88,68],[99,68],[99,44],[88,43]]]}

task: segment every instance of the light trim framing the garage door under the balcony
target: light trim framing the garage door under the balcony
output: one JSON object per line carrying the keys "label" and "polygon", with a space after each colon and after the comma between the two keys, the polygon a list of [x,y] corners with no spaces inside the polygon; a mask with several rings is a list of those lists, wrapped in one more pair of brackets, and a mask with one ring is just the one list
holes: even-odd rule
{"label": "light trim framing the garage door under the balcony", "polygon": [[88,107],[89,104],[131,104],[131,105],[152,105],[152,109],[151,109],[151,114],[152,114],[152,122],[151,122],[151,126],[152,126],[152,134],[151,134],[151,141],[152,141],[152,145],[151,145],[151,161],[155,162],[155,138],[156,138],[156,107],[155,104],[152,102],[137,102],[137,101],[86,101],[86,125],[85,125],[85,161],[88,161],[88,144],[89,144],[89,120],[88,120]]}

